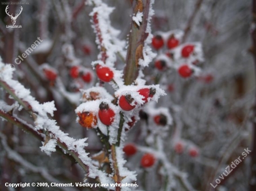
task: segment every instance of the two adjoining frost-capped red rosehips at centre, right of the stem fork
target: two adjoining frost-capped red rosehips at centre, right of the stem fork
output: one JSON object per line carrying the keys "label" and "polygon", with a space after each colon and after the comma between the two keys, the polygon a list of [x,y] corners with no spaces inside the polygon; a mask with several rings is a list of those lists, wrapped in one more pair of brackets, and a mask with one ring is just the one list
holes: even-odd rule
{"label": "two adjoining frost-capped red rosehips at centre, right of the stem fork", "polygon": [[[148,98],[152,98],[155,95],[155,88],[143,88],[137,91],[141,96],[143,96],[142,100],[144,103],[148,102]],[[128,94],[125,96],[121,96],[119,98],[119,106],[125,111],[131,111],[135,108],[136,103],[131,105],[134,102],[134,98]]]}

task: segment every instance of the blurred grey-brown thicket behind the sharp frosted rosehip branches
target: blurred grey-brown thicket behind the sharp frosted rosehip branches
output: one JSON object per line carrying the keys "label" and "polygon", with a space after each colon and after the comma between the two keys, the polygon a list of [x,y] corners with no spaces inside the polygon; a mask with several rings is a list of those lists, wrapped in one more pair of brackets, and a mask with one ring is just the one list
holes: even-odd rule
{"label": "blurred grey-brown thicket behind the sharp frosted rosehip branches", "polygon": [[[96,82],[91,62],[97,59],[99,51],[95,44],[95,34],[91,27],[91,6],[85,0],[30,0],[29,4],[9,5],[8,11],[20,13],[15,25],[22,28],[7,28],[12,25],[5,10],[7,5],[0,4],[0,57],[4,63],[16,68],[14,78],[30,89],[40,103],[54,100],[57,111],[54,119],[61,130],[74,138],[88,137],[91,153],[101,150],[101,142],[92,129],[82,128],[75,120],[76,103],[70,102],[70,96],[81,98],[79,89],[88,89]],[[24,1],[25,2],[25,1]],[[111,23],[120,30],[119,38],[127,40],[130,30],[132,7],[130,0],[106,0],[115,7],[111,14]],[[244,148],[252,141],[252,107],[255,95],[255,69],[251,55],[250,33],[251,2],[249,0],[156,0],[153,6],[152,33],[182,30],[185,42],[201,42],[204,62],[199,64],[201,74],[184,80],[177,71],[170,69],[159,71],[154,62],[144,70],[148,84],[159,83],[167,96],[158,103],[149,104],[141,113],[135,127],[128,132],[126,142],[138,146],[151,146],[147,134],[155,124],[150,109],[168,108],[174,124],[163,130],[163,146],[170,163],[180,172],[188,174],[188,181],[195,190],[200,191],[245,191],[249,188],[250,158],[245,158],[229,176],[215,189],[215,180],[232,161],[241,156]],[[34,49],[19,65],[14,60],[40,37],[42,43]],[[128,42],[128,41],[127,41]],[[155,51],[158,55],[164,51]],[[40,66],[47,63],[58,71],[64,86],[64,93],[41,76]],[[81,64],[91,72],[89,82],[73,79],[70,66]],[[124,63],[118,60],[116,68],[122,70]],[[106,85],[110,93],[111,86]],[[8,104],[13,100],[0,89],[0,99]],[[20,112],[20,116],[32,123],[29,116]],[[161,131],[161,130],[160,130]],[[42,140],[24,133],[7,121],[0,121],[0,132],[6,142],[0,143],[0,190],[12,189],[5,182],[49,182],[41,173],[64,183],[81,182],[84,174],[74,161],[60,153],[47,156],[40,151]],[[1,137],[3,140],[3,136]],[[174,141],[175,137],[175,141]],[[175,144],[182,142],[184,152],[179,153]],[[18,153],[24,161],[16,161],[7,153],[7,146]],[[189,146],[196,146],[199,155],[191,157]],[[185,191],[181,177],[173,176],[166,183],[160,171],[161,166],[143,169],[140,166],[141,153],[126,157],[127,166],[138,174],[139,190],[166,190],[163,185],[174,184],[173,191]],[[154,180],[154,181],[152,181]],[[89,182],[94,180],[89,179]],[[54,182],[54,181],[52,181]],[[38,187],[36,190],[58,190],[61,188]],[[87,188],[75,188],[87,190]],[[16,191],[33,188],[15,188]],[[88,189],[89,190],[89,189]],[[93,189],[91,189],[93,190]]]}

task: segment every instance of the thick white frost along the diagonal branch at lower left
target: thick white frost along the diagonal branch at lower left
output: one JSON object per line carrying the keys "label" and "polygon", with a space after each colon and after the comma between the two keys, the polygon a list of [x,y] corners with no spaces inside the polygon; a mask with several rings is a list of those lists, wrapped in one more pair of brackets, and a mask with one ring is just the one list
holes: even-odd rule
{"label": "thick white frost along the diagonal branch at lower left", "polygon": [[55,151],[54,147],[58,143],[61,148],[66,148],[67,152],[71,152],[71,155],[82,167],[86,166],[86,168],[83,169],[88,172],[88,177],[99,177],[103,182],[113,182],[105,172],[100,171],[97,167],[92,165],[88,153],[84,150],[84,147],[88,146],[88,144],[85,143],[87,138],[75,140],[69,137],[68,134],[60,130],[55,120],[47,116],[47,114],[53,115],[53,112],[56,110],[54,102],[40,104],[34,97],[30,96],[30,91],[18,81],[13,80],[12,76],[13,71],[9,70],[8,65],[3,64],[0,58],[0,85],[4,87],[23,108],[26,107],[25,109],[34,117],[36,130],[40,132],[43,130],[43,132],[49,136],[50,140],[52,139],[41,147],[42,150],[47,151],[47,153]]}

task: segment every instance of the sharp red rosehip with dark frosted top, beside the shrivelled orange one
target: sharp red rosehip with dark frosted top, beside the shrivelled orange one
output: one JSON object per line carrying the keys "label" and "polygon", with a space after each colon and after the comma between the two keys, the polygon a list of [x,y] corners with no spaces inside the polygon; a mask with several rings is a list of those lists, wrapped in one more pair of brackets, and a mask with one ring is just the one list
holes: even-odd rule
{"label": "sharp red rosehip with dark frosted top, beside the shrivelled orange one", "polygon": [[115,112],[111,108],[109,108],[108,103],[106,102],[101,102],[99,108],[100,109],[98,115],[101,123],[110,126],[115,119]]}

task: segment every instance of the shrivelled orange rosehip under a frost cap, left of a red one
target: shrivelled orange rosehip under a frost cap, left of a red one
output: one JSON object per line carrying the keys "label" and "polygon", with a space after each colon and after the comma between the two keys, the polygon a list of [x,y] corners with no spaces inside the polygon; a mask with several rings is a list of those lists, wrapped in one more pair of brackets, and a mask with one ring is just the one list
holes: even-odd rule
{"label": "shrivelled orange rosehip under a frost cap, left of a red one", "polygon": [[91,112],[82,112],[77,114],[79,117],[79,124],[82,127],[92,128],[97,124],[97,117]]}

